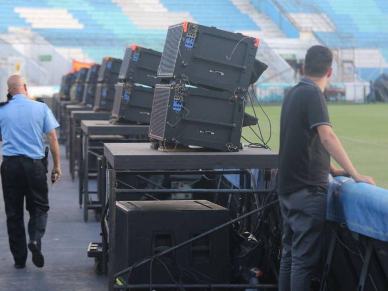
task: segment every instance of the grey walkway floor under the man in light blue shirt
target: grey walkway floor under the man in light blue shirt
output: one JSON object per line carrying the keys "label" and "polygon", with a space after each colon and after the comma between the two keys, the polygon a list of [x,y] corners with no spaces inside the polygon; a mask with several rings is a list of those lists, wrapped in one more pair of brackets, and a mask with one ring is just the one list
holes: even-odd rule
{"label": "grey walkway floor under the man in light blue shirt", "polygon": [[[0,290],[106,290],[107,277],[93,270],[93,259],[87,257],[91,241],[100,241],[99,223],[89,212],[83,221],[78,205],[78,180],[71,181],[68,161],[62,154],[61,180],[50,187],[50,211],[42,252],[45,266],[37,268],[27,259],[27,267],[15,269],[8,245],[4,201],[0,198]],[[50,162],[50,171],[52,163]],[[3,196],[3,195],[2,195]],[[28,212],[25,212],[27,226]]]}

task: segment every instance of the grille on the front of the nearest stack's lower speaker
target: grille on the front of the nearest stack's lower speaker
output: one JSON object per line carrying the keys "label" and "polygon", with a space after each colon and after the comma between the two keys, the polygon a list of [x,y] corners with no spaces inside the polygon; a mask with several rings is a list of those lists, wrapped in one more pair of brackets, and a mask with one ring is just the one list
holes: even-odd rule
{"label": "grille on the front of the nearest stack's lower speaker", "polygon": [[158,84],[155,87],[149,135],[150,137],[154,137],[159,140],[163,140],[164,138],[170,91],[171,85]]}

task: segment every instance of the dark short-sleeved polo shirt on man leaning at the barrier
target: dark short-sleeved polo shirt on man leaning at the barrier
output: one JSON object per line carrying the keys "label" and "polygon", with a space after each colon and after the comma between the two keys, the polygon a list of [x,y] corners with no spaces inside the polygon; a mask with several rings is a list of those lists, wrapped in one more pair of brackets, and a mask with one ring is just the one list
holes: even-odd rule
{"label": "dark short-sleeved polo shirt on man leaning at the barrier", "polygon": [[[330,124],[326,99],[317,84],[303,78],[285,96],[280,118],[280,195],[307,187],[326,188],[330,155],[317,126]],[[318,189],[319,189],[318,188]]]}

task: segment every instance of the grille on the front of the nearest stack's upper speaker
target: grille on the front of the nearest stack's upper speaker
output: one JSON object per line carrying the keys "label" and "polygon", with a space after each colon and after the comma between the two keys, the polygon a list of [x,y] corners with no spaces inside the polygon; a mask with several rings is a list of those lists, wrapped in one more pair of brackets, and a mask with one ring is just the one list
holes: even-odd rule
{"label": "grille on the front of the nearest stack's upper speaker", "polygon": [[172,77],[179,53],[183,33],[183,24],[170,26],[164,44],[162,59],[160,60],[158,77]]}

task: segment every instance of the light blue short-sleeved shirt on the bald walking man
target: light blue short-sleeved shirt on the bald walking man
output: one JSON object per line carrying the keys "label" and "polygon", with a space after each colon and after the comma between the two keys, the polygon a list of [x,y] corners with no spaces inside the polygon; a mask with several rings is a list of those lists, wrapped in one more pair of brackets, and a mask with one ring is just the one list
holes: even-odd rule
{"label": "light blue short-sleeved shirt on the bald walking man", "polygon": [[4,156],[26,156],[42,159],[45,156],[43,133],[59,127],[53,113],[42,102],[15,95],[0,107],[0,134]]}

